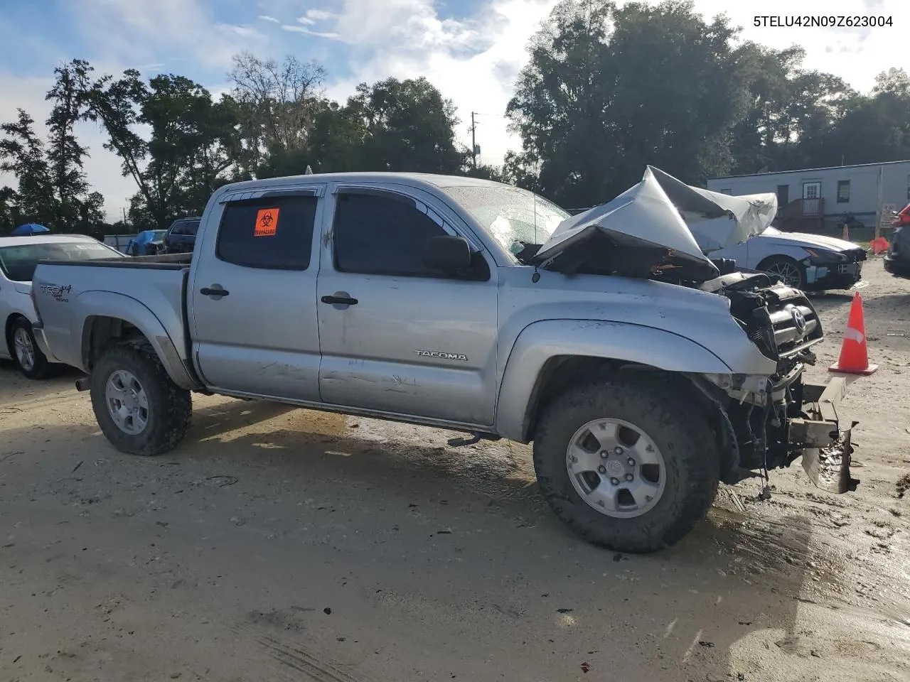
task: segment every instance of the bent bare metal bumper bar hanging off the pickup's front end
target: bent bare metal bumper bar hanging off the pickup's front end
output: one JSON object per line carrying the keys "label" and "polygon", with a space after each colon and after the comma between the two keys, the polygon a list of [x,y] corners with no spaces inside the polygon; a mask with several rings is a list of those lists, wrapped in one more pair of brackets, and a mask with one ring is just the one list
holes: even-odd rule
{"label": "bent bare metal bumper bar hanging off the pickup's front end", "polygon": [[803,414],[791,417],[789,445],[794,460],[803,456],[803,468],[815,486],[832,493],[853,491],[859,480],[850,475],[852,431],[858,422],[840,416],[846,380],[834,377],[827,384],[803,384]]}

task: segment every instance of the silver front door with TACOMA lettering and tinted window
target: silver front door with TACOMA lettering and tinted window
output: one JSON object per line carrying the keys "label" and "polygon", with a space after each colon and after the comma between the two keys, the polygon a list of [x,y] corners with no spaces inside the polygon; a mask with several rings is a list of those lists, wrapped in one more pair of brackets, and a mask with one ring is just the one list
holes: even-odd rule
{"label": "silver front door with TACOMA lettering and tinted window", "polygon": [[335,195],[317,292],[320,394],[332,405],[491,426],[496,270],[480,251],[472,279],[422,265],[431,236],[456,234],[440,206],[430,210],[438,219],[419,207],[426,198]]}

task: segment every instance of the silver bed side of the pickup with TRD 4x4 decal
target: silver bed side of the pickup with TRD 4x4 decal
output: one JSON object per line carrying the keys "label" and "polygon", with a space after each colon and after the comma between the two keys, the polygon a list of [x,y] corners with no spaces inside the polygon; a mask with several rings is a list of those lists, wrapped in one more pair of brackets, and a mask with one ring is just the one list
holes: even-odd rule
{"label": "silver bed side of the pickup with TRD 4x4 decal", "polygon": [[136,326],[154,320],[186,362],[185,291],[192,257],[40,261],[33,279],[38,329],[45,342],[39,339],[39,345],[50,351],[52,361],[86,371],[86,332],[99,316],[116,316]]}

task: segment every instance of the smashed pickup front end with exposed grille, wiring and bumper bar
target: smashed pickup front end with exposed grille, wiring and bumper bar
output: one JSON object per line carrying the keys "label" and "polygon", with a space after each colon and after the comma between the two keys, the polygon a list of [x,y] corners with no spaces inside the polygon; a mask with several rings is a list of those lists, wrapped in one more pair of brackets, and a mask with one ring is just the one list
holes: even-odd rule
{"label": "smashed pickup front end with exposed grille, wiring and bumper bar", "polygon": [[[800,456],[815,485],[831,492],[854,490],[850,476],[851,429],[837,416],[844,380],[827,385],[804,381],[815,364],[811,348],[824,338],[821,320],[805,294],[763,273],[732,273],[699,288],[726,296],[730,312],[763,356],[777,363],[770,377],[708,377],[714,399],[730,421],[738,461],[724,482],[764,476],[790,466]],[[763,386],[762,386],[763,385]],[[723,394],[722,394],[723,391]]]}

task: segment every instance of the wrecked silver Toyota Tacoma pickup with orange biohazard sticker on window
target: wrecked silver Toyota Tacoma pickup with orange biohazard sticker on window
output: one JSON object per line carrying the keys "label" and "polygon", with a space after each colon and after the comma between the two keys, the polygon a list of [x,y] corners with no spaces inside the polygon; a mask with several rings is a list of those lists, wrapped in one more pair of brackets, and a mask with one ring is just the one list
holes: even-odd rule
{"label": "wrecked silver Toyota Tacoma pickup with orange biohazard sticker on window", "polygon": [[122,452],[177,446],[193,392],[474,436],[453,445],[533,442],[569,527],[653,551],[703,518],[719,481],[764,482],[803,456],[817,485],[857,483],[843,381],[803,379],[823,339],[812,303],[722,273],[683,218],[733,214],[685,208],[686,191],[646,176],[569,216],[466,177],[228,185],[192,254],[40,263],[36,336],[86,372],[76,387]]}

